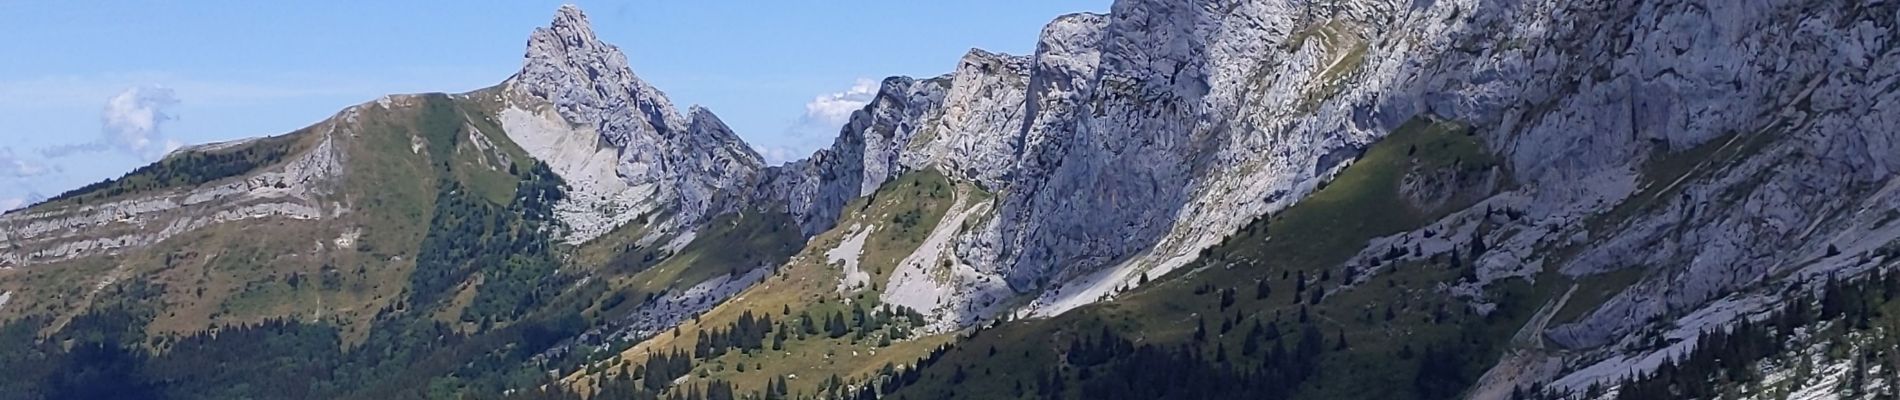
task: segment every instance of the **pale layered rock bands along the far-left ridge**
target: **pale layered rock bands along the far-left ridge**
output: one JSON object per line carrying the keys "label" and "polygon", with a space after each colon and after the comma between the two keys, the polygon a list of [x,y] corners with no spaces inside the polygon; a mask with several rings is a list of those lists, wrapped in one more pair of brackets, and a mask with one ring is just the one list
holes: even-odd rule
{"label": "pale layered rock bands along the far-left ridge", "polygon": [[300,133],[184,148],[122,178],[0,216],[0,267],[137,250],[205,226],[348,212],[329,197],[342,174],[342,121]]}

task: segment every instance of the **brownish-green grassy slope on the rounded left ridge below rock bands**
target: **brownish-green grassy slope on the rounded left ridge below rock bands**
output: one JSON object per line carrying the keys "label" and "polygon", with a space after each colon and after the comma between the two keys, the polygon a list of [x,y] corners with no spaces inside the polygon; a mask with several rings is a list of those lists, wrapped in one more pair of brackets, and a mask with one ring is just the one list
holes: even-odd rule
{"label": "brownish-green grassy slope on the rounded left ridge below rock bands", "polygon": [[[340,188],[321,201],[348,207],[350,212],[342,218],[220,224],[120,256],[10,269],[0,273],[0,290],[13,290],[15,298],[0,318],[66,318],[97,303],[91,292],[101,277],[114,277],[150,281],[162,288],[156,298],[133,300],[156,307],[146,328],[152,336],[298,318],[329,320],[344,328],[348,339],[361,339],[376,313],[401,300],[414,267],[416,245],[428,233],[435,201],[431,188],[439,178],[458,180],[502,205],[513,195],[517,178],[500,163],[504,157],[473,146],[466,127],[477,127],[505,159],[521,165],[532,161],[477,104],[448,95],[395,99],[390,108],[374,102],[359,106],[359,125],[338,131],[342,135],[336,144],[346,155],[348,171]],[[272,157],[281,163],[314,148],[331,123],[346,121],[336,118],[213,154],[272,154],[276,148],[289,148],[291,155]],[[412,138],[422,138],[426,146],[412,152]],[[42,207],[241,178],[192,180],[190,176],[203,174],[179,171],[177,165],[179,159],[194,157],[173,155],[108,186]],[[270,165],[256,165],[264,167]],[[334,239],[344,231],[361,231],[361,237],[353,246],[338,248]]]}

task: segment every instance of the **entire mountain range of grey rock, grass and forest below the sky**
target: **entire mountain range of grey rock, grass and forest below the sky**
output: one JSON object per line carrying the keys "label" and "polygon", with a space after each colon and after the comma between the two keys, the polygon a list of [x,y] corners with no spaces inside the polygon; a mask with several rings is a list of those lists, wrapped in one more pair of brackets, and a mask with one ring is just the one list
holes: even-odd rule
{"label": "entire mountain range of grey rock, grass and forest below the sky", "polygon": [[766,165],[562,6],[494,87],[0,214],[0,392],[1900,391],[1900,4],[1115,0],[1024,40]]}

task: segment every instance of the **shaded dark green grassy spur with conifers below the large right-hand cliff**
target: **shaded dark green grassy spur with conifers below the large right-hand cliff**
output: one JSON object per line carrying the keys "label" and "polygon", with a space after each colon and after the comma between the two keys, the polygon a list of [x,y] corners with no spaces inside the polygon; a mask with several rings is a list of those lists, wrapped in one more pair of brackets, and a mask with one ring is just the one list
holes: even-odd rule
{"label": "shaded dark green grassy spur with conifers below the large right-hand cliff", "polygon": [[[1419,152],[1408,155],[1417,146]],[[1372,237],[1419,227],[1442,212],[1423,212],[1402,201],[1398,182],[1416,167],[1472,167],[1492,163],[1482,146],[1463,135],[1455,123],[1416,119],[1393,131],[1372,146],[1364,157],[1341,173],[1324,190],[1256,227],[1243,229],[1227,243],[1212,248],[1193,267],[1159,277],[1161,282],[1142,286],[1119,300],[1089,305],[1049,320],[1018,320],[977,334],[960,343],[942,362],[925,370],[922,385],[904,389],[910,398],[942,394],[1007,398],[1015,385],[1034,385],[1024,373],[1009,372],[1020,366],[1053,366],[1060,349],[1075,334],[1092,334],[1102,326],[1125,332],[1138,343],[1182,343],[1205,318],[1214,341],[1239,349],[1250,320],[1277,320],[1282,334],[1294,336],[1300,305],[1290,277],[1305,271],[1309,277],[1334,269],[1332,281],[1311,286],[1332,290],[1340,281],[1336,269],[1357,254]],[[1461,209],[1461,207],[1444,207]],[[1264,227],[1264,231],[1262,231]],[[1410,396],[1416,362],[1395,353],[1404,345],[1423,351],[1431,343],[1457,339],[1495,341],[1507,337],[1547,296],[1548,284],[1531,288],[1522,281],[1493,286],[1503,300],[1503,311],[1493,318],[1461,313],[1457,301],[1434,290],[1450,282],[1457,271],[1436,265],[1400,265],[1374,277],[1370,282],[1338,290],[1311,309],[1313,320],[1330,341],[1343,332],[1351,347],[1328,353],[1322,373],[1302,391],[1307,398],[1406,398]],[[1254,282],[1267,279],[1271,296],[1254,300]],[[1197,294],[1212,286],[1214,292]],[[1216,292],[1235,288],[1237,303],[1220,309]],[[1393,320],[1383,318],[1383,307],[1393,307]],[[1444,307],[1446,320],[1433,322]],[[1220,336],[1222,318],[1241,315],[1233,332]],[[1370,318],[1368,318],[1370,317]],[[1206,347],[1214,347],[1212,343]],[[1396,360],[1396,362],[1395,362]],[[973,373],[961,385],[948,385],[950,372],[967,366]],[[1469,372],[1476,377],[1476,372]],[[1034,392],[1034,391],[1030,391]]]}

